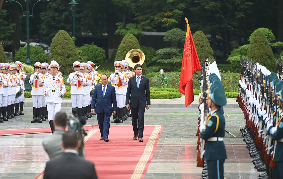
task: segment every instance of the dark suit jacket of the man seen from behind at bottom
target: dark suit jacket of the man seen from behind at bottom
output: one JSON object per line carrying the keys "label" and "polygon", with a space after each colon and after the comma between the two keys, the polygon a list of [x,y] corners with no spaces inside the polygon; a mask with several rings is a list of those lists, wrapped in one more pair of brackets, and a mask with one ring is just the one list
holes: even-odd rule
{"label": "dark suit jacket of the man seen from behind at bottom", "polygon": [[44,179],[94,179],[94,164],[74,153],[63,153],[46,163]]}

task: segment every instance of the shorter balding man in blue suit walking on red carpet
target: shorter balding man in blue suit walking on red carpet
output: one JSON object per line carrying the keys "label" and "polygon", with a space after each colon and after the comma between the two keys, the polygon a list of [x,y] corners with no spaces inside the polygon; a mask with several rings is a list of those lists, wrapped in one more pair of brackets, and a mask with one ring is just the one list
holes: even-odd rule
{"label": "shorter balding man in blue suit walking on red carpet", "polygon": [[100,79],[101,84],[97,85],[93,92],[91,100],[91,113],[93,114],[94,112],[96,112],[99,130],[101,134],[100,140],[108,142],[110,128],[109,121],[112,112],[113,115],[116,115],[117,102],[115,88],[110,84],[107,84],[107,75],[101,75]]}

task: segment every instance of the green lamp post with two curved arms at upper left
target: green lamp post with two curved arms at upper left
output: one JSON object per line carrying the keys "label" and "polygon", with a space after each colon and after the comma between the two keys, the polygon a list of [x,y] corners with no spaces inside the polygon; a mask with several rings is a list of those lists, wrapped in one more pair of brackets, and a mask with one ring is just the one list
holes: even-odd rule
{"label": "green lamp post with two curved arms at upper left", "polygon": [[16,2],[18,3],[21,8],[22,8],[22,12],[23,12],[23,16],[26,16],[26,20],[27,20],[27,57],[26,57],[26,64],[27,65],[30,65],[30,55],[29,55],[29,17],[32,16],[33,14],[33,8],[34,8],[34,5],[37,4],[39,1],[49,1],[49,0],[38,0],[36,1],[33,6],[32,6],[32,12],[29,12],[29,1],[30,0],[25,0],[26,2],[26,5],[27,5],[27,8],[26,8],[26,12],[24,12],[24,8],[22,6],[22,4],[20,4],[18,1],[15,1],[15,0],[9,0],[9,1],[5,1],[5,2]]}

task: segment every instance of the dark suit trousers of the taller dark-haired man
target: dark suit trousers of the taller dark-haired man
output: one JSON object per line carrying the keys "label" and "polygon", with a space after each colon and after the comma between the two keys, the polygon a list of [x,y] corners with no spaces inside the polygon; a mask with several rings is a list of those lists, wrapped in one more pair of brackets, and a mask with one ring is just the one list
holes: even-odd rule
{"label": "dark suit trousers of the taller dark-haired man", "polygon": [[144,111],[145,107],[130,107],[132,114],[132,126],[134,135],[139,134],[139,138],[143,137],[144,134]]}

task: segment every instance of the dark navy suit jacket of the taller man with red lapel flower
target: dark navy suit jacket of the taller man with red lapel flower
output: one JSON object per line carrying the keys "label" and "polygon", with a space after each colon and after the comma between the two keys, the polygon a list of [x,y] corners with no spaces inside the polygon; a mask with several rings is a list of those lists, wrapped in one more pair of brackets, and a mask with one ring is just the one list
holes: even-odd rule
{"label": "dark navy suit jacket of the taller man with red lapel flower", "polygon": [[129,79],[128,89],[126,94],[126,105],[130,107],[147,107],[150,105],[149,80],[141,75],[139,89],[136,85],[136,75]]}

